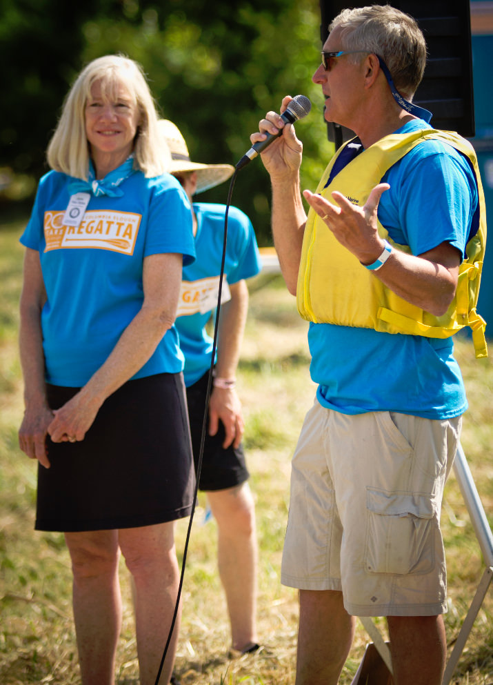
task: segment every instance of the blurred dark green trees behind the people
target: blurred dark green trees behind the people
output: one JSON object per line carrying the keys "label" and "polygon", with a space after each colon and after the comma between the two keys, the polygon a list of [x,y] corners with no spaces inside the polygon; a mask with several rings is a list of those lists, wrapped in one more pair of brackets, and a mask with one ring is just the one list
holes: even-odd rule
{"label": "blurred dark green trees behind the people", "polygon": [[[177,123],[195,161],[237,163],[266,111],[279,111],[286,94],[307,95],[312,113],[296,128],[303,188],[314,188],[333,153],[311,81],[320,21],[316,0],[0,0],[0,167],[23,180],[0,192],[3,203],[32,199],[70,84],[85,63],[110,53],[141,63],[160,115]],[[227,196],[224,183],[200,199]],[[270,244],[261,161],[239,172],[232,203],[250,216],[259,243]]]}

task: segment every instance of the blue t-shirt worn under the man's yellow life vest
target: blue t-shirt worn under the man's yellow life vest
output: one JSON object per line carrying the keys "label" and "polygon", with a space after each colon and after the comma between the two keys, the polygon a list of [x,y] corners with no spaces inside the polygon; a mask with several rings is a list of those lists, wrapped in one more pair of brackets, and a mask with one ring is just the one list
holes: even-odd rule
{"label": "blue t-shirt worn under the man's yellow life vest", "polygon": [[[431,128],[422,120],[396,133]],[[425,141],[394,164],[382,181],[378,216],[390,237],[414,255],[444,241],[465,250],[478,195],[469,161],[447,143]],[[395,411],[429,419],[467,409],[452,338],[310,324],[308,341],[317,398],[343,414]]]}

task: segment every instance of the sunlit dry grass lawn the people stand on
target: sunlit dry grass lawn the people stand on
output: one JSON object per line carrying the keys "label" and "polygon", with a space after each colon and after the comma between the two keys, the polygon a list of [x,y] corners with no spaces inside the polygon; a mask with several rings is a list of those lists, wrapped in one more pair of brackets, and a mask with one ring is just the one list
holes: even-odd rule
{"label": "sunlit dry grass lawn the people stand on", "polygon": [[[0,223],[0,683],[79,683],[71,607],[70,560],[61,533],[34,532],[36,464],[21,453],[17,429],[23,412],[17,353],[22,248],[26,217]],[[493,323],[492,323],[493,325]],[[256,499],[260,548],[259,633],[263,649],[229,662],[229,626],[216,563],[214,520],[205,522],[199,497],[183,586],[183,619],[176,670],[184,685],[228,683],[288,685],[294,682],[297,597],[280,584],[288,515],[290,457],[314,385],[308,373],[307,324],[281,277],[250,282],[250,312],[239,368],[245,447]],[[492,352],[493,354],[493,352]],[[470,409],[462,444],[476,487],[493,521],[493,361],[474,359],[472,343],[458,339]],[[179,558],[187,521],[177,527]],[[456,478],[445,488],[442,513],[447,552],[450,649],[485,569]],[[121,568],[124,615],[117,683],[137,684],[130,586]],[[493,684],[493,590],[485,597],[452,683]],[[378,621],[384,629],[384,622]],[[314,636],[316,639],[316,636]],[[341,684],[350,684],[370,642],[358,626]]]}

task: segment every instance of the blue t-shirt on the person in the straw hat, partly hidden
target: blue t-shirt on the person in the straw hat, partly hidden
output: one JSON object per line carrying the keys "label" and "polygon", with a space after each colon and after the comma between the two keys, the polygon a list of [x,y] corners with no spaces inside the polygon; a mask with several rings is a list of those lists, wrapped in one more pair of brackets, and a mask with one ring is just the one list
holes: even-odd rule
{"label": "blue t-shirt on the person in the straw hat, partly hidden", "polygon": [[[212,338],[205,330],[216,309],[224,241],[225,205],[194,203],[197,215],[195,251],[197,259],[183,268],[176,326],[185,355],[185,386],[189,387],[210,368]],[[248,219],[230,207],[226,242],[222,301],[228,298],[228,284],[250,278],[261,270],[259,248]],[[214,304],[216,303],[216,304]]]}

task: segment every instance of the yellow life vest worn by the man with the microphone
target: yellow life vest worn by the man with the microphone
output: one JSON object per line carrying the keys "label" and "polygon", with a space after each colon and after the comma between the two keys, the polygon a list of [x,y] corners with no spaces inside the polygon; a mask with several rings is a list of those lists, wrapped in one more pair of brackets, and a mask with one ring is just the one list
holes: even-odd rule
{"label": "yellow life vest worn by the man with the microphone", "polygon": [[[298,310],[304,319],[315,323],[374,328],[381,332],[431,338],[450,337],[461,328],[470,326],[476,357],[487,357],[486,324],[476,312],[486,243],[486,208],[476,154],[468,141],[449,131],[425,129],[407,134],[394,133],[363,150],[325,188],[342,147],[330,161],[316,192],[333,202],[330,194],[333,190],[339,190],[354,204],[362,207],[385,172],[425,140],[443,141],[462,152],[474,168],[478,186],[479,230],[467,242],[467,259],[459,268],[456,295],[447,312],[435,317],[384,286],[336,240],[332,231],[311,208],[301,251],[296,292]],[[387,239],[394,248],[410,252],[409,246],[396,244],[379,221],[377,224],[382,238]]]}

